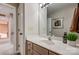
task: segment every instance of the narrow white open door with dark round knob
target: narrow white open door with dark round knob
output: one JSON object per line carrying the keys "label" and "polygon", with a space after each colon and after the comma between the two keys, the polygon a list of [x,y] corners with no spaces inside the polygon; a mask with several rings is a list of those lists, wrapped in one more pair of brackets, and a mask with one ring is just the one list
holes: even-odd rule
{"label": "narrow white open door with dark round knob", "polygon": [[24,11],[23,3],[19,4],[18,8],[18,39],[19,39],[19,51],[22,55],[25,54],[25,39],[24,39]]}

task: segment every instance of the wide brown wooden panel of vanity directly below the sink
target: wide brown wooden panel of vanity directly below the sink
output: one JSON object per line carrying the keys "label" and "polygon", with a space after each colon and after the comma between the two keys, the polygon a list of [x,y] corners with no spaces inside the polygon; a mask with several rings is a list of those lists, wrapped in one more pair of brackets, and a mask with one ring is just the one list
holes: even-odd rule
{"label": "wide brown wooden panel of vanity directly below the sink", "polygon": [[41,54],[41,55],[48,55],[48,50],[38,46],[36,44],[33,44],[33,50],[35,50],[37,53]]}

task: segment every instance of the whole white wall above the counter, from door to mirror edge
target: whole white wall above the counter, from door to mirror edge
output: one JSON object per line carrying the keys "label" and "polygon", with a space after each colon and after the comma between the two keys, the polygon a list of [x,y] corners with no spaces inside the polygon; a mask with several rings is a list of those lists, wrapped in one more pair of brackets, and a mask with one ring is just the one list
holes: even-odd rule
{"label": "whole white wall above the counter, from door to mirror edge", "polygon": [[25,4],[25,36],[47,35],[47,8],[38,3]]}

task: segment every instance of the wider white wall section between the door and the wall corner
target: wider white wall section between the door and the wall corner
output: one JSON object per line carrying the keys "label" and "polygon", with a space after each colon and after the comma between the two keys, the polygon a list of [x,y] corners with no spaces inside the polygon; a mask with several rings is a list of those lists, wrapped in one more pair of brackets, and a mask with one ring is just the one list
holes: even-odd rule
{"label": "wider white wall section between the door and the wall corner", "polygon": [[38,34],[38,4],[25,4],[25,36]]}

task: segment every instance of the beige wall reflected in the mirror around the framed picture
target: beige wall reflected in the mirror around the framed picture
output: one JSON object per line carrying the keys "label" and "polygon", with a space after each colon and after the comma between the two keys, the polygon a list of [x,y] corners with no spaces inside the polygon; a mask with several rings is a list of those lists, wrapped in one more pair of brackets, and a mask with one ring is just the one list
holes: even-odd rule
{"label": "beige wall reflected in the mirror around the framed picture", "polygon": [[61,29],[54,29],[53,28],[53,34],[56,36],[63,36],[64,32],[69,32],[71,22],[73,19],[74,10],[76,8],[77,4],[73,4],[70,6],[67,6],[63,9],[60,9],[58,11],[55,11],[53,14],[49,16],[49,18],[55,19],[55,18],[61,18],[63,17],[64,22],[64,28]]}

